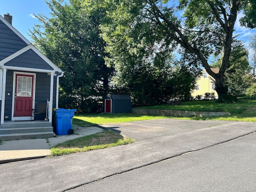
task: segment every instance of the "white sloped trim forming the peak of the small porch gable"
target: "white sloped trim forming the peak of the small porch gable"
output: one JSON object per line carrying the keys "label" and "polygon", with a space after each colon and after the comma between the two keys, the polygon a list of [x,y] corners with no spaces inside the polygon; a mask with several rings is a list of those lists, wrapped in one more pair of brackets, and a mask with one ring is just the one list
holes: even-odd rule
{"label": "white sloped trim forming the peak of the small porch gable", "polygon": [[[10,60],[16,58],[17,56],[21,55],[22,53],[26,52],[27,50],[32,49],[40,58],[42,58],[48,65],[50,65],[54,71],[62,72],[60,68],[58,68],[51,60],[49,60],[44,54],[42,54],[36,47],[34,47],[32,44],[24,47],[23,49],[15,52],[14,54],[8,56],[7,58],[4,58],[0,61],[0,67],[4,67],[4,64],[9,62]],[[6,66],[7,67],[7,66]],[[50,70],[49,70],[50,71]]]}

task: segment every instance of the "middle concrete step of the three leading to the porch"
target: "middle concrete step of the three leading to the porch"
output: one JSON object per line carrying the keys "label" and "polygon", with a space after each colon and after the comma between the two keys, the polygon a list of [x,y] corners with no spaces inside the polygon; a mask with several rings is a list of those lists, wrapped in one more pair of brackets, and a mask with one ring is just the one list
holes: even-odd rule
{"label": "middle concrete step of the three leading to the porch", "polygon": [[47,127],[28,127],[28,128],[1,128],[0,135],[3,134],[22,134],[22,133],[38,133],[38,132],[51,132],[52,126]]}

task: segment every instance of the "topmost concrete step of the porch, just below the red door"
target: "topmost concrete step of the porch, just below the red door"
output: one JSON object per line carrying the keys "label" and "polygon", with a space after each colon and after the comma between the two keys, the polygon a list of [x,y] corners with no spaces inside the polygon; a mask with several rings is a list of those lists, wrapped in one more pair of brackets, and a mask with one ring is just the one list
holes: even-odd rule
{"label": "topmost concrete step of the porch, just below the red door", "polygon": [[0,128],[30,128],[30,127],[51,127],[52,123],[47,121],[5,121]]}

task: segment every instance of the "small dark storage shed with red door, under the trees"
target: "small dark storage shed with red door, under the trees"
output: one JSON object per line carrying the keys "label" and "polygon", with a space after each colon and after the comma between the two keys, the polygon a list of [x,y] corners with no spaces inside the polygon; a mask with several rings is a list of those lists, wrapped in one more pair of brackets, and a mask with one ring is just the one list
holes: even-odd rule
{"label": "small dark storage shed with red door, under the trees", "polygon": [[129,95],[108,94],[103,98],[105,112],[130,113],[132,112],[131,97]]}

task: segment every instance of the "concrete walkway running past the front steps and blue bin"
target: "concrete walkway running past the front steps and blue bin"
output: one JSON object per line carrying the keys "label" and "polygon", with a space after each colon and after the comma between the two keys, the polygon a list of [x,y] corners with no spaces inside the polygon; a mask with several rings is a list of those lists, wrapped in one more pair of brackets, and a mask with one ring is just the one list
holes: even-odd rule
{"label": "concrete walkway running past the front steps and blue bin", "polygon": [[0,145],[0,164],[20,160],[43,158],[50,155],[50,148],[66,140],[95,134],[103,129],[98,127],[80,127],[72,125],[74,134],[56,136],[52,138],[25,139],[3,141]]}

